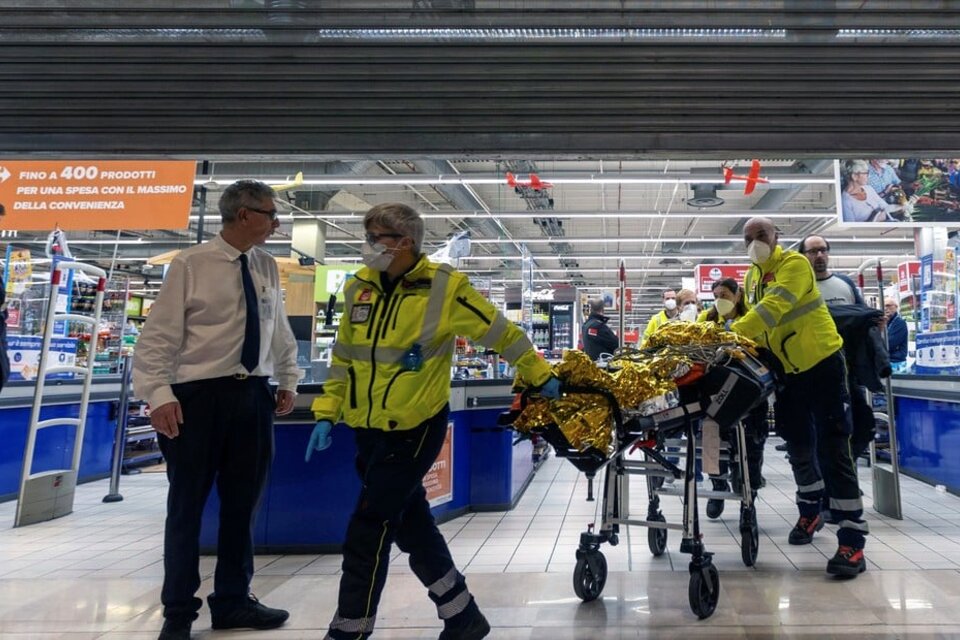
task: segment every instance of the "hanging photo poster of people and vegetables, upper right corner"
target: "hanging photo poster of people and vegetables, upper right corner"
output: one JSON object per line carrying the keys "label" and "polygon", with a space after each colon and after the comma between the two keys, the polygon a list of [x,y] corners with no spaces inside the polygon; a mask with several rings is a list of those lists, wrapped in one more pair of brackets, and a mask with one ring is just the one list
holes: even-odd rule
{"label": "hanging photo poster of people and vegetables, upper right corner", "polygon": [[841,225],[960,224],[960,158],[838,160],[834,174]]}

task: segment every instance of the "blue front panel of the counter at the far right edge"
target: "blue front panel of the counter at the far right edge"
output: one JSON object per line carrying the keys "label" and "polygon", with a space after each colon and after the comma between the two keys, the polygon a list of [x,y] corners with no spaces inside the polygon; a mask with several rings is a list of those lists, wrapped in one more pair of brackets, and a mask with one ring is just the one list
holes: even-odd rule
{"label": "blue front panel of the counter at the far right edge", "polygon": [[960,404],[895,400],[901,470],[960,493]]}

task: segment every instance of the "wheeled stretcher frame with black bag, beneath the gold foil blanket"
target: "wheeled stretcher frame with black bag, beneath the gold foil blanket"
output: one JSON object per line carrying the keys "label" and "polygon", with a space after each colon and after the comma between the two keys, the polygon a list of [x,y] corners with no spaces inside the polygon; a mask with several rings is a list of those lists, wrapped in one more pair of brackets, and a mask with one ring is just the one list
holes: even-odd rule
{"label": "wheeled stretcher frame with black bag, beneath the gold foil blanket", "polygon": [[[573,447],[555,424],[534,427],[533,433],[543,437],[556,450],[557,456],[567,459],[587,477],[587,499],[593,499],[593,481],[604,471],[602,517],[600,526],[590,524],[580,534],[577,564],[573,586],[577,596],[585,602],[595,600],[603,591],[607,579],[607,562],[600,550],[603,543],[617,545],[621,526],[648,528],[650,551],[662,555],[667,546],[667,531],[681,532],[681,553],[689,553],[690,582],[688,588],[691,610],[700,618],[707,618],[716,610],[719,601],[720,576],[713,565],[713,554],[703,544],[697,513],[697,451],[698,441],[714,430],[729,430],[735,435],[735,446],[744,487],[741,500],[740,530],[742,555],[748,566],[756,561],[759,543],[756,512],[750,491],[749,470],[746,461],[746,442],[741,419],[760,403],[766,403],[773,391],[774,378],[763,362],[748,350],[737,346],[718,348],[715,357],[706,363],[701,375],[685,376],[678,380],[677,394],[669,408],[646,413],[640,409],[619,406],[613,393],[606,389],[565,385],[565,394],[601,396],[609,405],[613,421],[612,455],[599,449]],[[515,418],[516,412],[510,414]],[[505,419],[507,414],[505,414]],[[666,452],[668,446],[679,445],[685,452]],[[642,460],[627,456],[639,451]],[[683,458],[683,468],[670,457]],[[629,517],[628,476],[646,477],[649,503],[645,519]],[[680,486],[668,487],[665,479],[680,480]],[[703,492],[707,497],[711,492]],[[660,510],[661,495],[678,495],[683,504],[682,521],[668,523]],[[722,497],[729,498],[724,495]]]}

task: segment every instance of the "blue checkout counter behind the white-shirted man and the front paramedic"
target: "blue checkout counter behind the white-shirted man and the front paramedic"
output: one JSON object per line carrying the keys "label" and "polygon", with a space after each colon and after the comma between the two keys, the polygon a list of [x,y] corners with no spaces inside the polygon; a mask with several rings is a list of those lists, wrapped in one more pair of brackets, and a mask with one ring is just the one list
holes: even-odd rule
{"label": "blue checkout counter behind the white-shirted man and the front paramedic", "polygon": [[[529,440],[497,426],[513,401],[511,379],[455,380],[450,398],[449,443],[425,478],[438,522],[469,511],[505,511],[523,495],[535,472]],[[301,385],[294,412],[276,423],[276,453],[254,528],[257,553],[339,551],[360,491],[356,448],[349,427],[333,429],[333,444],[304,462],[313,430],[310,405],[322,386]],[[216,488],[204,510],[201,548],[216,546]]]}

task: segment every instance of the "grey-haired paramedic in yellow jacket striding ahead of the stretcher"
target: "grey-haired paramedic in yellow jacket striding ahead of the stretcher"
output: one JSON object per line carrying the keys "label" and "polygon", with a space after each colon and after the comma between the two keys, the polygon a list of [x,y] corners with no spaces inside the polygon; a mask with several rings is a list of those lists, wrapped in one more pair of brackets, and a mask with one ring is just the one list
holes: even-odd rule
{"label": "grey-haired paramedic in yellow jacket striding ahead of the stretcher", "polygon": [[394,542],[429,590],[444,640],[490,631],[437,530],[423,488],[447,433],[454,338],[499,352],[541,394],[559,397],[559,381],[526,335],[466,276],[421,252],[420,215],[382,204],[364,216],[363,262],[344,289],[345,311],[317,426],[307,447],[325,449],[334,423],[353,427],[362,487],[347,527],[338,608],[328,638],[366,638],[374,628]]}

